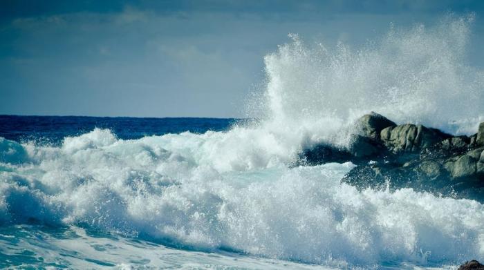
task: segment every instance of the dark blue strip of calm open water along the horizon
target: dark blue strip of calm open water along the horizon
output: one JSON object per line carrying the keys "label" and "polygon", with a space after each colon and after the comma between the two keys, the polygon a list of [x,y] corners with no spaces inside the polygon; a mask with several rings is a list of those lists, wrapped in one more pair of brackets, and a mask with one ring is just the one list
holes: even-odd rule
{"label": "dark blue strip of calm open water along the horizon", "polygon": [[185,131],[224,131],[236,121],[233,118],[0,115],[0,137],[17,142],[35,141],[58,145],[64,137],[82,135],[94,128],[109,128],[119,139],[139,139]]}

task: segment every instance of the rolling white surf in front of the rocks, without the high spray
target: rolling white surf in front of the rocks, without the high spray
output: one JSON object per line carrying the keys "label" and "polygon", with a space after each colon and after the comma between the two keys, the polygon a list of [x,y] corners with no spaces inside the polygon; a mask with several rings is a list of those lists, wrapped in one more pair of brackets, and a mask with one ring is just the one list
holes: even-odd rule
{"label": "rolling white surf in front of the rocks, without the high spray", "polygon": [[[358,192],[339,184],[350,163],[287,168],[234,158],[232,151],[223,162],[212,152],[224,136],[123,141],[96,129],[59,148],[24,146],[30,163],[0,174],[3,222],[82,224],[333,266],[483,258],[478,202],[410,189]],[[232,168],[234,160],[257,166]]]}

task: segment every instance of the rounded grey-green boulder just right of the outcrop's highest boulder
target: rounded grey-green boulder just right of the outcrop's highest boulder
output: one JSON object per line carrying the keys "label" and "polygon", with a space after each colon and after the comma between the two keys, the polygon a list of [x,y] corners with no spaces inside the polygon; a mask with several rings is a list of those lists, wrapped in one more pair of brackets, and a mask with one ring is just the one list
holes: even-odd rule
{"label": "rounded grey-green boulder just right of the outcrop's highest boulder", "polygon": [[417,152],[421,148],[433,146],[444,139],[452,137],[435,128],[426,128],[422,125],[403,124],[384,128],[380,137],[389,151],[393,153]]}

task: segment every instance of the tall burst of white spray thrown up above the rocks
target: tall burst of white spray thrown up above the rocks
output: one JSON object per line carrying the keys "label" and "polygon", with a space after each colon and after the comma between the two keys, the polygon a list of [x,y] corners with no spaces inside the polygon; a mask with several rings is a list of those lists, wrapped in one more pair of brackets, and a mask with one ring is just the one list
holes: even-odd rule
{"label": "tall burst of white spray thrown up above the rocks", "polygon": [[[398,124],[474,133],[484,119],[484,73],[467,64],[474,17],[445,17],[433,27],[391,27],[353,50],[307,44],[297,35],[265,57],[268,118],[317,133],[321,119],[352,122],[373,110]],[[314,123],[314,124],[313,124]]]}

